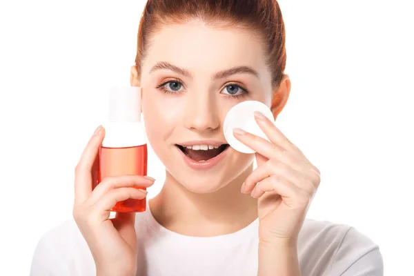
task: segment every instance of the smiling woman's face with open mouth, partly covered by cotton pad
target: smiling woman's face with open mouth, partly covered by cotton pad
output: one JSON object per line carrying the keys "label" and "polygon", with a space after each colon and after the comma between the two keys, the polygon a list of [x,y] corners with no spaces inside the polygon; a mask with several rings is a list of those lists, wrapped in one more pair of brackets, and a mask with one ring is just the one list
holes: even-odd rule
{"label": "smiling woman's face with open mouth, partly covered by cotton pad", "polygon": [[254,155],[226,146],[223,123],[242,101],[270,107],[271,75],[253,30],[164,26],[141,64],[146,134],[172,177],[194,193],[212,193],[250,167]]}

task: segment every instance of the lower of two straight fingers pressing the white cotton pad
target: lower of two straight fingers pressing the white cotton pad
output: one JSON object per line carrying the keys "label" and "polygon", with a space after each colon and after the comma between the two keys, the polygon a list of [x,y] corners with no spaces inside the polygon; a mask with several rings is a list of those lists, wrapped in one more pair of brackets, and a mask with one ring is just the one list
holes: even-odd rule
{"label": "lower of two straight fingers pressing the white cotton pad", "polygon": [[262,137],[253,135],[250,132],[246,132],[241,128],[235,128],[233,130],[235,137],[246,146],[255,150],[260,155],[263,155],[267,159],[273,159],[278,152],[284,152],[286,149],[281,148],[277,144],[273,144],[270,141],[263,139]]}

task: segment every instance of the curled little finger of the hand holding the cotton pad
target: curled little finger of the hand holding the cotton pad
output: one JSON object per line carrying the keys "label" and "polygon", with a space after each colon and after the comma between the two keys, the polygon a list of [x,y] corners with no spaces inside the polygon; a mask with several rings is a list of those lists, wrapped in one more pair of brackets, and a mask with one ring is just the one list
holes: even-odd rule
{"label": "curled little finger of the hand holding the cotton pad", "polygon": [[305,190],[279,175],[272,175],[260,181],[251,195],[252,197],[259,198],[266,192],[277,193],[282,197],[284,203],[291,208],[308,206],[311,201],[311,197]]}

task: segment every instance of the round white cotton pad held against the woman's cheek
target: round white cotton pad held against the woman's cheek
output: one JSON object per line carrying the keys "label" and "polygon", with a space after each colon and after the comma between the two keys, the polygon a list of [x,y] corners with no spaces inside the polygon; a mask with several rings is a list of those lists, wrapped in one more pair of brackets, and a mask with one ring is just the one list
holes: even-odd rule
{"label": "round white cotton pad held against the woman's cheek", "polygon": [[233,135],[233,129],[242,128],[247,132],[262,137],[268,141],[268,137],[255,121],[255,111],[262,112],[270,121],[275,121],[272,111],[266,104],[260,101],[242,101],[231,108],[224,119],[224,137],[228,144],[235,150],[243,153],[255,153],[255,150],[246,146]]}

